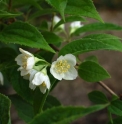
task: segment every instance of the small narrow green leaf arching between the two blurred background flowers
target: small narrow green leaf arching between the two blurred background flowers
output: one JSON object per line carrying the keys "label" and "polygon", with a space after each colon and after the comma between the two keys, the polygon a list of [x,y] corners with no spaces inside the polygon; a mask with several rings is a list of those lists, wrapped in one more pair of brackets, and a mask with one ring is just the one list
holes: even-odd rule
{"label": "small narrow green leaf arching between the two blurred background flowers", "polygon": [[61,19],[55,26],[54,29],[56,29],[58,26],[60,26],[61,24],[64,23],[68,23],[68,22],[74,22],[74,21],[86,21],[83,17],[80,16],[68,16],[65,18],[65,21],[63,19]]}

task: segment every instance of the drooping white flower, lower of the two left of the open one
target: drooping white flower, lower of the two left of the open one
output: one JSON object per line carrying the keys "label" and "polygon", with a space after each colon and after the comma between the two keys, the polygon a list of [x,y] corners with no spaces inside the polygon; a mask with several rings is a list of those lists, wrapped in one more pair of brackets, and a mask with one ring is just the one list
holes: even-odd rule
{"label": "drooping white flower, lower of the two left of the open one", "polygon": [[30,71],[29,80],[29,87],[33,90],[36,88],[36,86],[39,86],[40,91],[44,94],[47,89],[50,89],[50,79],[47,74],[43,73],[43,71],[37,72],[36,70],[32,69]]}

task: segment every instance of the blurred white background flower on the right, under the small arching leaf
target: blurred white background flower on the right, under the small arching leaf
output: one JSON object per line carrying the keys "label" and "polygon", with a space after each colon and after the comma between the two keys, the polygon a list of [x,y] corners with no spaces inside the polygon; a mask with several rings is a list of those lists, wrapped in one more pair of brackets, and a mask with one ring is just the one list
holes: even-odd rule
{"label": "blurred white background flower on the right, under the small arching leaf", "polygon": [[79,27],[82,27],[83,24],[81,24],[80,21],[75,21],[70,24],[70,34],[75,32]]}

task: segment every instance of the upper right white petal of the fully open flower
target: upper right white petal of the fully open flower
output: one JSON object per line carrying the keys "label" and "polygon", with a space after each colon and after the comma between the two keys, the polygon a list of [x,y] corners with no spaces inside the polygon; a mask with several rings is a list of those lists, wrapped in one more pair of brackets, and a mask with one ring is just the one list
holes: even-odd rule
{"label": "upper right white petal of the fully open flower", "polygon": [[68,61],[68,63],[72,66],[75,66],[76,65],[76,57],[72,54],[66,54],[64,56],[65,60]]}

